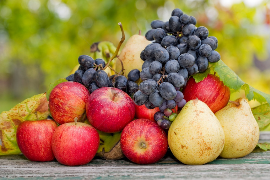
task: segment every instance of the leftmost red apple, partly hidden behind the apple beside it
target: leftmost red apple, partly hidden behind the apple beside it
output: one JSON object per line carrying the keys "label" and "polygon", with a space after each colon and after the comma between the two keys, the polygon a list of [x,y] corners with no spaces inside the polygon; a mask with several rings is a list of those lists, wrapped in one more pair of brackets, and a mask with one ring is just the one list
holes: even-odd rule
{"label": "leftmost red apple, partly hidden behind the apple beside it", "polygon": [[16,132],[17,144],[30,161],[52,161],[51,137],[57,124],[53,120],[24,121]]}

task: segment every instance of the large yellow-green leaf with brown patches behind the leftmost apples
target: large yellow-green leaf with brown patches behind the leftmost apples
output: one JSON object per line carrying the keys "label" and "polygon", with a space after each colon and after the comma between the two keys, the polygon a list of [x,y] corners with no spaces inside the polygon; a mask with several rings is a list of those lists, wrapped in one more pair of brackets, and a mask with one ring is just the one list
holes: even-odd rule
{"label": "large yellow-green leaf with brown patches behind the leftmost apples", "polygon": [[16,141],[17,127],[25,120],[46,119],[48,103],[46,93],[34,95],[0,114],[0,155],[21,153]]}

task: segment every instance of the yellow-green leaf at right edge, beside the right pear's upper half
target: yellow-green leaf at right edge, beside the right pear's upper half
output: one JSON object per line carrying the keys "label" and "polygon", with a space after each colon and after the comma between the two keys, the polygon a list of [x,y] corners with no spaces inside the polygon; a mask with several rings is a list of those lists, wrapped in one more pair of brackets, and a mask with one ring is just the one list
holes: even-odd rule
{"label": "yellow-green leaf at right edge, beside the right pear's upper half", "polygon": [[264,128],[270,123],[270,106],[268,103],[251,108],[259,128]]}

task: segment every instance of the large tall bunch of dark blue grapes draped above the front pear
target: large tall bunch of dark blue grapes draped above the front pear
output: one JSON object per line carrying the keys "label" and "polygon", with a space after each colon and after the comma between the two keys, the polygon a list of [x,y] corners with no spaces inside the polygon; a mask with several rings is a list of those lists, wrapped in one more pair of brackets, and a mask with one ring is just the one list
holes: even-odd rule
{"label": "large tall bunch of dark blue grapes draped above the front pear", "polygon": [[133,101],[149,109],[159,107],[160,112],[154,118],[164,129],[170,127],[176,116],[171,109],[186,104],[180,90],[188,77],[206,71],[208,62],[220,59],[219,52],[215,51],[217,38],[208,36],[206,27],[195,25],[193,16],[176,8],[169,21],[152,21],[152,29],[145,34],[146,39],[153,42],[140,54],[144,61],[140,73],[143,82]]}

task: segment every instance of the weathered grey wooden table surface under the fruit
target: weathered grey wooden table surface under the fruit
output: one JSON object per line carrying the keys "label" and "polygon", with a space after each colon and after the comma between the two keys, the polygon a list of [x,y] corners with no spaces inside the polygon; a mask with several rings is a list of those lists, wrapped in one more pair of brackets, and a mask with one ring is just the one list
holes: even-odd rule
{"label": "weathered grey wooden table surface under the fruit", "polygon": [[[260,142],[270,142],[270,132],[262,132]],[[243,158],[217,158],[199,166],[184,165],[170,152],[151,165],[138,165],[125,158],[94,158],[87,165],[72,167],[5,155],[0,156],[0,179],[270,179],[270,151],[254,150]]]}

